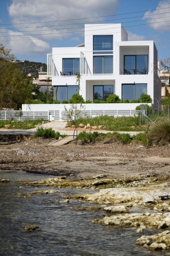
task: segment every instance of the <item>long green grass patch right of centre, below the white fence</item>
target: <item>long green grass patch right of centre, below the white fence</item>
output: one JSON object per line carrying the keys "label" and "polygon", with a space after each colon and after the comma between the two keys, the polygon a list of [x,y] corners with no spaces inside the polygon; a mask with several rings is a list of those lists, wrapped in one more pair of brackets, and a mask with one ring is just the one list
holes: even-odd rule
{"label": "long green grass patch right of centre, below the white fence", "polygon": [[82,118],[77,120],[77,124],[90,124],[91,126],[99,126],[103,125],[105,130],[119,130],[119,131],[141,131],[142,128],[140,127],[140,117],[133,116],[133,117],[114,117],[108,115],[102,115],[99,117],[93,118]]}

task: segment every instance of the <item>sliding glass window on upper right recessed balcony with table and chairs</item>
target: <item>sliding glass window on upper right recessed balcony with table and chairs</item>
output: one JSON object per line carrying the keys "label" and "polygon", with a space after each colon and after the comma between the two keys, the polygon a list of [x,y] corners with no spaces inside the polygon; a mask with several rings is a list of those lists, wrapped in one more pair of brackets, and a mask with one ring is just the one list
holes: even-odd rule
{"label": "sliding glass window on upper right recessed balcony with table and chairs", "polygon": [[148,74],[148,55],[124,55],[124,74]]}

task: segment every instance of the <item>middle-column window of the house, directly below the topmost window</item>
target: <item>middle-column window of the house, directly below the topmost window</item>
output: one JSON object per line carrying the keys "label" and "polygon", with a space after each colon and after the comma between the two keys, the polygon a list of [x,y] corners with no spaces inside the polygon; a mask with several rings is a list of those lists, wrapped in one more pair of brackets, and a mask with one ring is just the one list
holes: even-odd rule
{"label": "middle-column window of the house, directly below the topmost window", "polygon": [[93,56],[94,74],[113,74],[113,56]]}

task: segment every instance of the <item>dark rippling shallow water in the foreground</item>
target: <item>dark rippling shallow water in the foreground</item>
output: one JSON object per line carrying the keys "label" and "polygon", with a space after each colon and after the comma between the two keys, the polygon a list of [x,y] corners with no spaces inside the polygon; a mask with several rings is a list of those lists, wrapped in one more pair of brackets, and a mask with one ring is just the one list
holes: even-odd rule
{"label": "dark rippling shallow water in the foreground", "polygon": [[[0,178],[9,179],[0,183],[0,255],[57,255],[57,256],[127,256],[166,255],[166,252],[147,252],[136,247],[137,234],[131,228],[105,227],[91,220],[102,212],[77,211],[72,207],[91,206],[78,200],[58,204],[63,195],[92,193],[93,190],[56,189],[60,193],[33,195],[21,199],[17,193],[53,189],[49,187],[19,188],[23,180],[39,180],[47,175],[29,174],[22,171],[0,171]],[[38,225],[39,229],[28,232],[26,225]],[[154,232],[155,233],[155,232]]]}

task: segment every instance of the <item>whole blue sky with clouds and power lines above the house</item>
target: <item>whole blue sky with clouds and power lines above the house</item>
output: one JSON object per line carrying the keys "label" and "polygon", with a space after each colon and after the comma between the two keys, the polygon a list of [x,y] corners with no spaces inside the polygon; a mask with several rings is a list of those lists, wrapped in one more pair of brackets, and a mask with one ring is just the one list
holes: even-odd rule
{"label": "whole blue sky with clouds and power lines above the house", "polygon": [[[76,46],[84,42],[83,32],[68,33],[82,30],[83,24],[72,25],[72,23],[85,21],[100,23],[100,21],[119,19],[106,23],[122,23],[129,34],[129,40],[154,40],[158,59],[165,59],[170,57],[170,8],[168,7],[170,0],[1,0],[0,43],[12,49],[17,59],[46,63],[46,54],[51,53],[52,47]],[[156,10],[149,11],[153,9]],[[139,13],[120,15],[132,12]],[[63,21],[105,15],[115,16]],[[148,19],[154,20],[148,21]],[[58,20],[62,22],[49,22]],[[46,23],[42,23],[45,21]],[[30,22],[34,23],[30,24]],[[132,26],[137,24],[146,25]],[[27,30],[29,32],[23,32]],[[36,30],[39,31],[35,32]]]}

